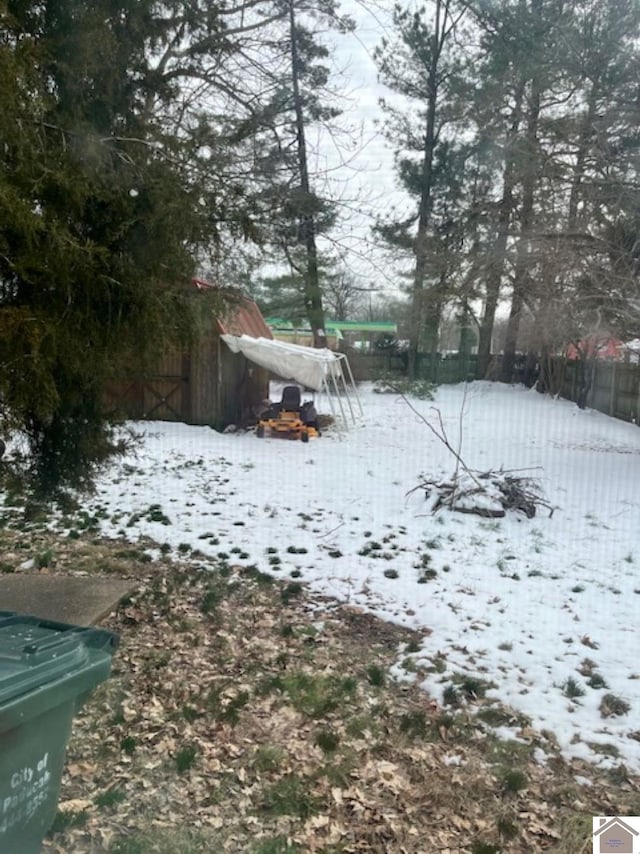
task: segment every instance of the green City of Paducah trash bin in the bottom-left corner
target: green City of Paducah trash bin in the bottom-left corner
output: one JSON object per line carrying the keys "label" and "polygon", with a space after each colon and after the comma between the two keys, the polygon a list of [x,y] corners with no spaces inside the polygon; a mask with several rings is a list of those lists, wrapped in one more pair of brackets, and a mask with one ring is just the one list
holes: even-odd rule
{"label": "green City of Paducah trash bin in the bottom-left corner", "polygon": [[56,814],[76,711],[117,635],[0,611],[0,854],[38,854]]}

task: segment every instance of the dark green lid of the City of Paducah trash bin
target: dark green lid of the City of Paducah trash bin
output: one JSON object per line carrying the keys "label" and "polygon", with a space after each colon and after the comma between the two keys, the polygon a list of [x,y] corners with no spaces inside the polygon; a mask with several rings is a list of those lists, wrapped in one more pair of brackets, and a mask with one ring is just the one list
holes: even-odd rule
{"label": "dark green lid of the City of Paducah trash bin", "polygon": [[[88,634],[87,634],[88,633]],[[0,709],[4,703],[88,665],[100,630],[0,612]]]}

